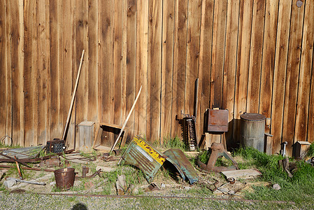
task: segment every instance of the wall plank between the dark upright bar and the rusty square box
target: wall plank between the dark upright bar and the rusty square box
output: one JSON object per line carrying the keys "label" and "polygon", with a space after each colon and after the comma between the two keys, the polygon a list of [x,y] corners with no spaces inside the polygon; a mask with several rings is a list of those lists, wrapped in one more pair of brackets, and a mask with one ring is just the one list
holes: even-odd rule
{"label": "wall plank between the dark upright bar and the rusty square box", "polygon": [[199,104],[197,117],[197,137],[204,133],[204,113],[209,108],[211,43],[213,40],[214,1],[202,1],[201,27],[199,38]]}

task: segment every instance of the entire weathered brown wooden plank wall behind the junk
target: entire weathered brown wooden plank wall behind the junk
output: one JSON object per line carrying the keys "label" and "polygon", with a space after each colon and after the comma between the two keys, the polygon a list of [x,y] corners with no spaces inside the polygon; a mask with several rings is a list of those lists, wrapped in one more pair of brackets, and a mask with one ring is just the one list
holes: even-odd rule
{"label": "entire weathered brown wooden plank wall behind the junk", "polygon": [[[0,1],[0,137],[29,146],[62,137],[80,55],[71,117],[122,125],[149,141],[180,136],[175,120],[229,109],[230,144],[244,112],[271,118],[273,153],[314,139],[314,1]],[[76,116],[76,120],[74,118]],[[5,139],[10,144],[10,138]]]}

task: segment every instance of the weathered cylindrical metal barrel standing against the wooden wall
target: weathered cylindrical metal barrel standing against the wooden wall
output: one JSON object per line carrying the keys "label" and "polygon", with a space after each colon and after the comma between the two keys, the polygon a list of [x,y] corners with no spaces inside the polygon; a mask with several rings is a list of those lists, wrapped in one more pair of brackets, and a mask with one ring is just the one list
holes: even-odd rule
{"label": "weathered cylindrical metal barrel standing against the wooden wall", "polygon": [[259,113],[243,113],[241,116],[241,145],[264,152],[266,117]]}

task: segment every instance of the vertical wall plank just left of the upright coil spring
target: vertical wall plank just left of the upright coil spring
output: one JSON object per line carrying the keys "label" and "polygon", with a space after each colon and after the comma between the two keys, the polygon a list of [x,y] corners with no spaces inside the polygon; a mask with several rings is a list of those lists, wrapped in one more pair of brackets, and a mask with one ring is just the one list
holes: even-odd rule
{"label": "vertical wall plank just left of the upright coil spring", "polygon": [[174,29],[173,89],[171,113],[171,137],[180,136],[176,116],[182,118],[185,99],[185,64],[187,58],[187,0],[176,1],[176,28]]}

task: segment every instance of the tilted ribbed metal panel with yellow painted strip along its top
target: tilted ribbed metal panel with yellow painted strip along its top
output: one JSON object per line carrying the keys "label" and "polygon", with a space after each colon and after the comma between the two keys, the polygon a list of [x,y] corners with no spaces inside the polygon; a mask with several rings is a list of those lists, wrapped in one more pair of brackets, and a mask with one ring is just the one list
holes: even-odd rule
{"label": "tilted ribbed metal panel with yellow painted strip along its top", "polygon": [[149,183],[164,164],[163,154],[150,146],[141,137],[134,137],[129,147],[122,155],[119,164],[134,165],[141,169]]}

